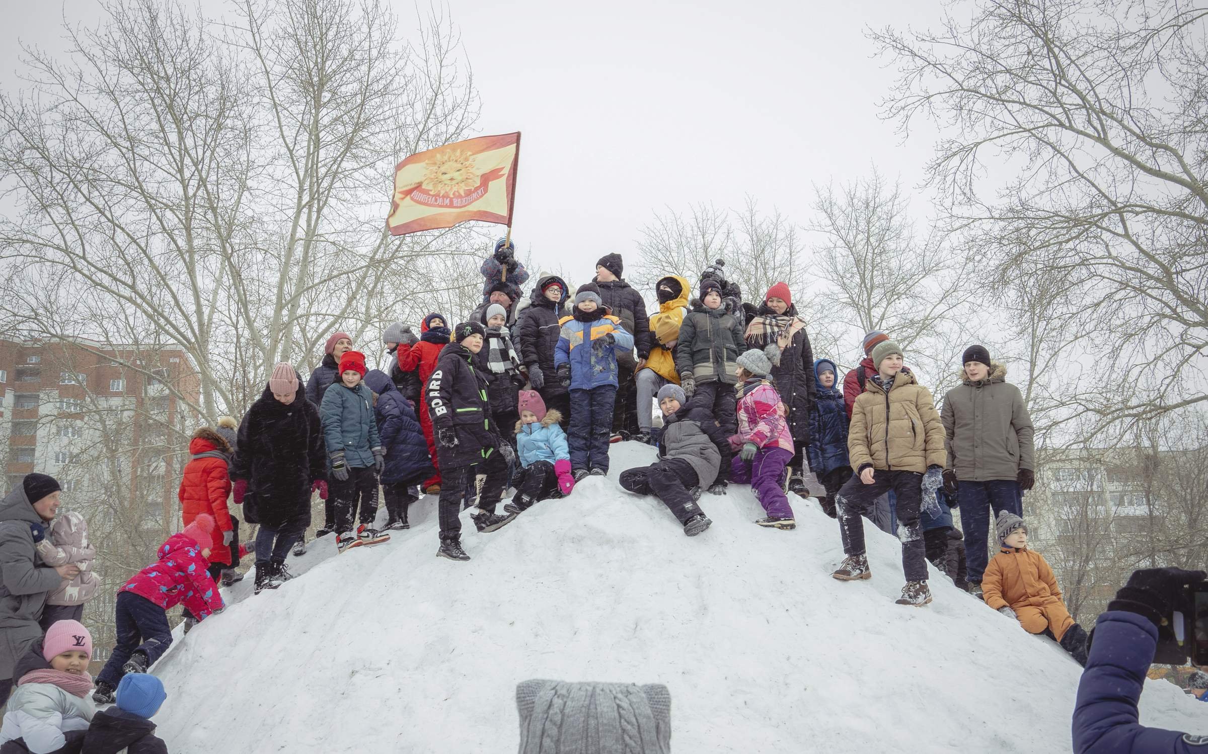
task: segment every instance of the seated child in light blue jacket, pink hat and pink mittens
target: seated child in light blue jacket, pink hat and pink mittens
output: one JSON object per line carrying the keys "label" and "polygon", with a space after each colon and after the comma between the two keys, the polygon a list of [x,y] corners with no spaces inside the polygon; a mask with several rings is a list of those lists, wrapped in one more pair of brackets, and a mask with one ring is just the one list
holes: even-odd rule
{"label": "seated child in light blue jacket, pink hat and pink mittens", "polygon": [[523,468],[516,479],[512,502],[504,505],[507,513],[522,513],[539,501],[565,497],[575,487],[567,433],[558,423],[562,413],[546,410],[541,393],[535,390],[522,390],[518,405],[516,458]]}

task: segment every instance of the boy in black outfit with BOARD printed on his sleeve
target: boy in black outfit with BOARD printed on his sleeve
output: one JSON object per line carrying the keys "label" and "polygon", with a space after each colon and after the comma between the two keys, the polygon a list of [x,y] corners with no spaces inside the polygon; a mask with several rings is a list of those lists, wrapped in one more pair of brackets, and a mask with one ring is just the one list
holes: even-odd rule
{"label": "boy in black outfit with BOARD printed on his sleeve", "polygon": [[[474,367],[487,331],[480,322],[463,322],[453,329],[453,343],[441,351],[436,370],[428,379],[424,401],[436,432],[441,467],[439,557],[470,560],[461,549],[461,499],[478,474],[486,480],[471,514],[480,532],[506,526],[516,514],[501,516],[495,504],[507,486],[507,464],[516,454],[501,439],[490,419],[487,378]],[[472,496],[471,496],[472,497]]]}

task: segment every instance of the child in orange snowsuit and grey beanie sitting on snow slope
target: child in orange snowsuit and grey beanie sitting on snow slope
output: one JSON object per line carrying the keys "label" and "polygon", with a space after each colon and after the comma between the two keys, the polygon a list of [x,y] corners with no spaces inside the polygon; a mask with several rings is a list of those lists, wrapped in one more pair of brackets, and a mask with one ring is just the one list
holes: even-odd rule
{"label": "child in orange snowsuit and grey beanie sitting on snow slope", "polygon": [[1023,519],[1000,510],[995,528],[1003,550],[989,561],[982,578],[986,604],[1018,620],[1028,633],[1052,637],[1085,666],[1086,631],[1065,609],[1052,568],[1040,553],[1028,549],[1028,528]]}

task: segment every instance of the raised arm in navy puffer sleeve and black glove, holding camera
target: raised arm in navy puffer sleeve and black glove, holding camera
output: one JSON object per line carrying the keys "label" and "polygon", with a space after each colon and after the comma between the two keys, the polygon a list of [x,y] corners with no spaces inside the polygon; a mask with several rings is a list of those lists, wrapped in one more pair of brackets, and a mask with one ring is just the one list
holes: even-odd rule
{"label": "raised arm in navy puffer sleeve and black glove, holding camera", "polygon": [[[1145,568],[1108,603],[1091,632],[1091,651],[1074,705],[1076,754],[1204,754],[1208,736],[1145,727],[1137,701],[1158,638],[1173,639],[1174,613],[1203,571]],[[1190,638],[1190,637],[1189,637]]]}

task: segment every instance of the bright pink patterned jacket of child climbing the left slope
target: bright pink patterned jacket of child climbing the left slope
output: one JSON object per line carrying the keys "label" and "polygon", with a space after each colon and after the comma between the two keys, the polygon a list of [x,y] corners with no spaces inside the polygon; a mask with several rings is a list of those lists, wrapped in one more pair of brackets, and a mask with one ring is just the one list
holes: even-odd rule
{"label": "bright pink patterned jacket of child climbing the left slope", "polygon": [[207,571],[209,563],[192,537],[168,537],[158,556],[158,562],[130,577],[121,591],[133,591],[165,610],[184,602],[198,620],[222,609],[222,596]]}

